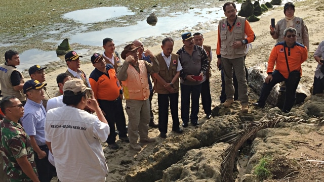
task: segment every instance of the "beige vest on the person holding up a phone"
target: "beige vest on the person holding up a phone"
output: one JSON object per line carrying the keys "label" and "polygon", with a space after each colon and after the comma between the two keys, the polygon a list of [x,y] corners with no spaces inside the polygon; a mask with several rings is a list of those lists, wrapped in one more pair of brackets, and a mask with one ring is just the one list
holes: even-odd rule
{"label": "beige vest on the person holding up a phone", "polygon": [[[302,37],[302,22],[303,22],[303,19],[302,18],[299,18],[299,17],[295,17],[294,20],[293,20],[293,28],[296,29],[296,35],[297,35],[297,38],[296,38],[296,41],[298,43],[301,43],[303,44],[303,37]],[[285,41],[285,38],[284,38],[284,31],[285,29],[287,28],[287,21],[286,19],[281,19],[278,21],[277,23],[278,27],[279,27],[279,37],[277,39],[277,43],[278,42],[282,42],[282,41]]]}

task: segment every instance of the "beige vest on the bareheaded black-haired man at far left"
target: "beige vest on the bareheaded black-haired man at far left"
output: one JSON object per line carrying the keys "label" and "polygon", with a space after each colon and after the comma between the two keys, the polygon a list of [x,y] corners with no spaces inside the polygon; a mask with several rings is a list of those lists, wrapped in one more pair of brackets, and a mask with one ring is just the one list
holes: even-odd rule
{"label": "beige vest on the bareheaded black-haired man at far left", "polygon": [[[1,85],[1,92],[3,96],[15,96],[19,101],[26,101],[26,97],[24,95],[23,90],[16,91],[14,89],[14,86],[11,83],[10,76],[13,71],[18,71],[13,66],[8,66],[6,64],[0,65],[0,85]],[[19,72],[19,71],[18,71]],[[24,76],[19,72],[22,79],[20,80],[20,83],[25,82]]]}

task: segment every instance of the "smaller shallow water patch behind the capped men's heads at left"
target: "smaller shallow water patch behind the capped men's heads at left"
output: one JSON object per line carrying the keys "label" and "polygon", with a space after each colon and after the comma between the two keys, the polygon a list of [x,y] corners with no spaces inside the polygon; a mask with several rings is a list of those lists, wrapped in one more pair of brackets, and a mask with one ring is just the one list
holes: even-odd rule
{"label": "smaller shallow water patch behind the capped men's heads at left", "polygon": [[[75,50],[78,54],[83,55],[86,54],[89,50]],[[31,49],[28,51],[24,51],[19,53],[20,57],[20,65],[17,67],[19,71],[23,71],[25,69],[29,69],[31,66],[38,65],[46,65],[50,62],[64,61],[64,56],[57,57],[56,51],[42,51],[38,49]]]}

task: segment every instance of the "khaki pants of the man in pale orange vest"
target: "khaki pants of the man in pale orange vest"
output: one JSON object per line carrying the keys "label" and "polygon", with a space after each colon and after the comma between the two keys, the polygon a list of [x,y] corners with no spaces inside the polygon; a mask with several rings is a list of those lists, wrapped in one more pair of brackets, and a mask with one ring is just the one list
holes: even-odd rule
{"label": "khaki pants of the man in pale orange vest", "polygon": [[126,113],[128,115],[128,137],[131,144],[137,144],[138,134],[147,138],[148,123],[150,122],[149,100],[126,100]]}

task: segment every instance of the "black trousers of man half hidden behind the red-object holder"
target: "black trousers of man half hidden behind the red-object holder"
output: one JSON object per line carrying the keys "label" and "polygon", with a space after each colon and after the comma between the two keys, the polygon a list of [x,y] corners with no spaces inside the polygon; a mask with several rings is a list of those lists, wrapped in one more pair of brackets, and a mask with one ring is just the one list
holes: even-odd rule
{"label": "black trousers of man half hidden behind the red-object holder", "polygon": [[209,79],[201,83],[201,104],[206,115],[212,114],[212,97]]}

